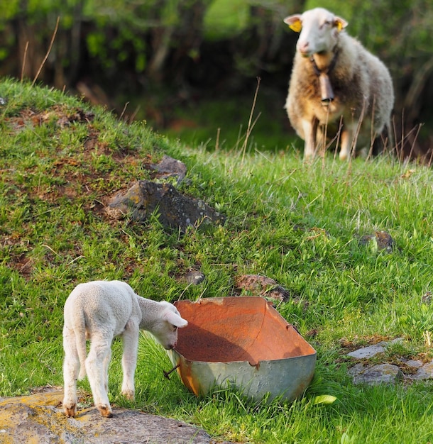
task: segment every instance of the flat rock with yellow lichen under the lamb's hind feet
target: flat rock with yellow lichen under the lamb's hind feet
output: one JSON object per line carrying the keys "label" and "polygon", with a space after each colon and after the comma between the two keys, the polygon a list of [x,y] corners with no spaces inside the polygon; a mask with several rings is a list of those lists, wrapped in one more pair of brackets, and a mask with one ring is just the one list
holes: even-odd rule
{"label": "flat rock with yellow lichen under the lamb's hind feet", "polygon": [[84,409],[66,418],[60,404],[63,392],[55,390],[0,401],[0,442],[65,444],[211,444],[203,430],[175,419],[114,409],[103,418],[97,409]]}

